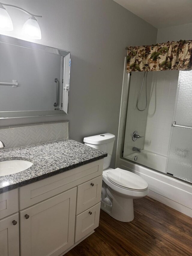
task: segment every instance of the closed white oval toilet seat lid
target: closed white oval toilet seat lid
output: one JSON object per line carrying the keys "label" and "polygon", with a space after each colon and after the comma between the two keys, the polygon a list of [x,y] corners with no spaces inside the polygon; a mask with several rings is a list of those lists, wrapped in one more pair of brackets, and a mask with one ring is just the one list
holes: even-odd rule
{"label": "closed white oval toilet seat lid", "polygon": [[148,189],[148,184],[142,177],[120,168],[107,171],[107,179],[114,185],[131,191]]}

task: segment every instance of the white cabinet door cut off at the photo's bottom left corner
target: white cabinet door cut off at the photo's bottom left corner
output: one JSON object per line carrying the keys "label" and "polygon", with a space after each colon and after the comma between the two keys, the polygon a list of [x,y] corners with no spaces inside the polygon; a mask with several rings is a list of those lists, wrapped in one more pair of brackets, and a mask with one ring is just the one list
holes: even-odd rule
{"label": "white cabinet door cut off at the photo's bottom left corner", "polygon": [[19,256],[19,213],[0,220],[0,256]]}

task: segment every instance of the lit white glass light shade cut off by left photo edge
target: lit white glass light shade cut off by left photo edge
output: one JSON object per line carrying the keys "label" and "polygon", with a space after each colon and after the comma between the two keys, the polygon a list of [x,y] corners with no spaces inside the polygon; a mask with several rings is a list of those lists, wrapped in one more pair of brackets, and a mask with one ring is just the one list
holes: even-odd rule
{"label": "lit white glass light shade cut off by left photo edge", "polygon": [[12,31],[13,23],[7,10],[0,4],[0,31]]}

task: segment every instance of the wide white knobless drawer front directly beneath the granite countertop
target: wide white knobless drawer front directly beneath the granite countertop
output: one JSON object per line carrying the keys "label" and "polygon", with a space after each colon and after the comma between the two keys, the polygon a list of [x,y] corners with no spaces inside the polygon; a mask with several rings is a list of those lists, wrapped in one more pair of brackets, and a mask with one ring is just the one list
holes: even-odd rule
{"label": "wide white knobless drawer front directly beneath the granite countertop", "polygon": [[103,172],[103,159],[19,188],[20,210],[82,184]]}

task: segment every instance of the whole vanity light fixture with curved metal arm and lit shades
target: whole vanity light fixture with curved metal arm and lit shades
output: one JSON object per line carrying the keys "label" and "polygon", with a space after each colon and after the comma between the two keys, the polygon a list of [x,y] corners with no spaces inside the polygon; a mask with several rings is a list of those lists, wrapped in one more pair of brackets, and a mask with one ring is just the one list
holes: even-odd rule
{"label": "whole vanity light fixture with curved metal arm and lit shades", "polygon": [[12,31],[13,30],[13,23],[11,21],[11,18],[7,12],[7,10],[4,8],[4,6],[9,6],[13,8],[17,8],[27,14],[29,14],[31,17],[24,23],[22,28],[22,34],[26,35],[32,39],[41,39],[41,29],[37,22],[37,19],[35,17],[42,17],[40,15],[32,14],[28,11],[26,11],[23,8],[20,8],[16,5],[8,5],[3,4],[0,2],[0,30],[5,31]]}

